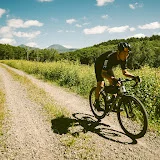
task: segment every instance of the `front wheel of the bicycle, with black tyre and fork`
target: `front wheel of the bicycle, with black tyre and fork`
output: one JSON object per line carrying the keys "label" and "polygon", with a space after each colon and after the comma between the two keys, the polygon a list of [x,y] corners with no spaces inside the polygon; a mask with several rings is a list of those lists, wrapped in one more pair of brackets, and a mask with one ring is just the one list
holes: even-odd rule
{"label": "front wheel of the bicycle, with black tyre and fork", "polygon": [[123,96],[118,105],[118,120],[123,131],[131,138],[145,135],[148,127],[147,113],[143,104],[133,96]]}

